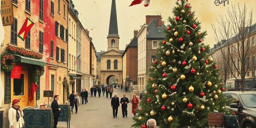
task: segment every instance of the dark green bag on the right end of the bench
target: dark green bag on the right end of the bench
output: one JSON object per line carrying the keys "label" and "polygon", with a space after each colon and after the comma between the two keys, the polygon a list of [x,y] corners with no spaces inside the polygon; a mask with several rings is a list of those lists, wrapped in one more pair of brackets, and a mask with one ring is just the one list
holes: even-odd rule
{"label": "dark green bag on the right end of the bench", "polygon": [[224,120],[224,122],[225,122],[224,127],[239,128],[238,116],[237,115],[233,115],[233,116],[224,115],[224,119],[225,119]]}

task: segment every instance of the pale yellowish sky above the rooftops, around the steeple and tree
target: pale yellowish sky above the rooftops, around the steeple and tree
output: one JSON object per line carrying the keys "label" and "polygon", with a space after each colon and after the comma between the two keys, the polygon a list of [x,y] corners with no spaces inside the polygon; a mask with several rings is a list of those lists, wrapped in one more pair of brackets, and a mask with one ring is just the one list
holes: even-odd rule
{"label": "pale yellowish sky above the rooftops, around the steeple and tree", "polygon": [[[224,3],[214,4],[215,1],[225,1]],[[176,0],[151,0],[148,7],[142,4],[130,6],[132,0],[116,0],[116,13],[119,39],[119,49],[124,50],[126,44],[130,43],[133,38],[133,31],[140,30],[146,21],[146,15],[161,15],[165,25],[169,24],[167,18],[173,17],[172,8]],[[201,31],[206,30],[204,43],[213,47],[216,44],[214,41],[214,33],[211,23],[218,26],[217,20],[220,20],[220,15],[227,14],[227,9],[232,9],[231,4],[237,2],[240,8],[246,4],[247,14],[252,10],[253,24],[256,23],[256,8],[255,0],[188,0],[192,6],[192,11],[195,11],[195,17],[201,22]],[[73,0],[75,9],[78,11],[79,20],[85,29],[90,31],[90,37],[97,50],[107,51],[107,36],[109,27],[109,18],[112,0]],[[217,19],[217,20],[216,20]],[[216,27],[218,28],[218,27]]]}

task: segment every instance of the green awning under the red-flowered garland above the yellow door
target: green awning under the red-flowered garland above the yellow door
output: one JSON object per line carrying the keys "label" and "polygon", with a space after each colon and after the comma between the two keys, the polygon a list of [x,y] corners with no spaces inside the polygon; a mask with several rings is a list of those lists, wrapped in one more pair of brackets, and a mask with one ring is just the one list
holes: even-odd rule
{"label": "green awning under the red-flowered garland above the yellow door", "polygon": [[19,56],[19,55],[13,55],[13,56],[15,57],[16,61],[19,61],[19,62],[22,62],[22,63],[46,66],[46,61],[43,61],[43,60],[38,60],[38,59]]}

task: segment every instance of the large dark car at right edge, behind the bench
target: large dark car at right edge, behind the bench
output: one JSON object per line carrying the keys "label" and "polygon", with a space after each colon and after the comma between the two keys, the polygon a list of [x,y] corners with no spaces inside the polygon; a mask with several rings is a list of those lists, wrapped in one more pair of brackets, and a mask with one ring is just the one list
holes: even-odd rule
{"label": "large dark car at right edge, behind the bench", "polygon": [[238,116],[240,128],[256,128],[256,91],[223,92],[231,103],[226,106]]}

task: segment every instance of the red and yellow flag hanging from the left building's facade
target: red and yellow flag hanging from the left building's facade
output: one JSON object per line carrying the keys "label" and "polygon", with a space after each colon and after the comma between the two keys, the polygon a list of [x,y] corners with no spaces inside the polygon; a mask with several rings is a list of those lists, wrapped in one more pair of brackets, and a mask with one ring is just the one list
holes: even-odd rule
{"label": "red and yellow flag hanging from the left building's facade", "polygon": [[25,22],[23,23],[20,32],[18,33],[18,37],[20,37],[20,39],[22,41],[25,40],[26,36],[28,35],[28,32],[30,30],[30,28],[32,28],[32,26],[34,25],[34,22],[32,22],[28,17],[26,18]]}

